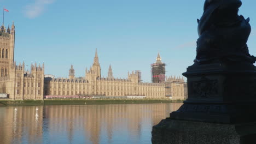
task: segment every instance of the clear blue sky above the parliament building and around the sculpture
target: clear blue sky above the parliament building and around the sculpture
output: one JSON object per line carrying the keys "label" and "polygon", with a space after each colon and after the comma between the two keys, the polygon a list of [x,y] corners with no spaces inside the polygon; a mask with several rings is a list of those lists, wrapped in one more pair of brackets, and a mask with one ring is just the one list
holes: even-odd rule
{"label": "clear blue sky above the parliament building and around the sculpture", "polygon": [[[242,1],[240,14],[250,17],[248,40],[256,55],[256,1]],[[181,76],[193,64],[197,22],[203,0],[0,0],[4,24],[16,27],[15,60],[27,65],[45,63],[45,74],[67,77],[70,65],[75,76],[84,76],[98,49],[102,76],[109,64],[114,77],[141,70],[150,82],[150,64],[158,51],[167,64],[166,75]],[[2,15],[1,15],[2,18]]]}

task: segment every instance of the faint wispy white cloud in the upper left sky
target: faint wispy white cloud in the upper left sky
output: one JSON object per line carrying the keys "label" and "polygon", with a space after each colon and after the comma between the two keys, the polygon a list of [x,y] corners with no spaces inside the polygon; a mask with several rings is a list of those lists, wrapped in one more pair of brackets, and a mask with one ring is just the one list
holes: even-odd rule
{"label": "faint wispy white cloud in the upper left sky", "polygon": [[25,7],[25,16],[33,19],[42,14],[46,5],[52,4],[55,0],[34,0],[34,3],[28,4]]}

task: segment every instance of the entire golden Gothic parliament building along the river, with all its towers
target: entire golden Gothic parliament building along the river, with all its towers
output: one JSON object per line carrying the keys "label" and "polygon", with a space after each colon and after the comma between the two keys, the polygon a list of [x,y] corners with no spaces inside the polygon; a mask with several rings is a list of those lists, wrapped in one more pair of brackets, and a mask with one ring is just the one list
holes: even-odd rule
{"label": "entire golden Gothic parliament building along the river, with all its towers", "polygon": [[44,75],[44,64],[31,64],[31,70],[25,70],[25,63],[14,61],[15,26],[0,31],[0,93],[7,94],[13,100],[42,100],[46,96],[68,97],[125,97],[143,96],[146,98],[186,99],[187,83],[181,77],[165,77],[165,64],[158,53],[152,64],[152,83],[141,80],[141,71],[127,74],[127,79],[115,79],[109,65],[108,76],[101,76],[101,66],[97,55],[84,77],[75,77],[73,65],[69,77],[57,78]]}

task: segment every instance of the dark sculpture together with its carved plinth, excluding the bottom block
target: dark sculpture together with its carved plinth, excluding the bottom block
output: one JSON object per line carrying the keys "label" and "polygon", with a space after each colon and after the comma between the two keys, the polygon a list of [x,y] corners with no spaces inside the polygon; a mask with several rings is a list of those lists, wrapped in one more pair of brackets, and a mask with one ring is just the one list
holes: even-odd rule
{"label": "dark sculpture together with its carved plinth, excluding the bottom block", "polygon": [[202,122],[255,122],[256,58],[247,40],[249,18],[237,15],[240,0],[206,0],[198,21],[195,64],[188,78],[188,99],[171,119]]}

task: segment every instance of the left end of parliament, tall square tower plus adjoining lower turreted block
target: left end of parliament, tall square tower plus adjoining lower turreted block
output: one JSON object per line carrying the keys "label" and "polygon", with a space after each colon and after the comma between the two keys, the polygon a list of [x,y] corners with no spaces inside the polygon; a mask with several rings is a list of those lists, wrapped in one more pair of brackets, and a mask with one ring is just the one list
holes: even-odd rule
{"label": "left end of parliament, tall square tower plus adjoining lower turreted block", "polygon": [[31,71],[25,70],[25,63],[16,65],[14,61],[15,26],[2,25],[0,33],[1,77],[0,93],[7,93],[14,100],[42,100],[44,87],[44,64],[31,64]]}

